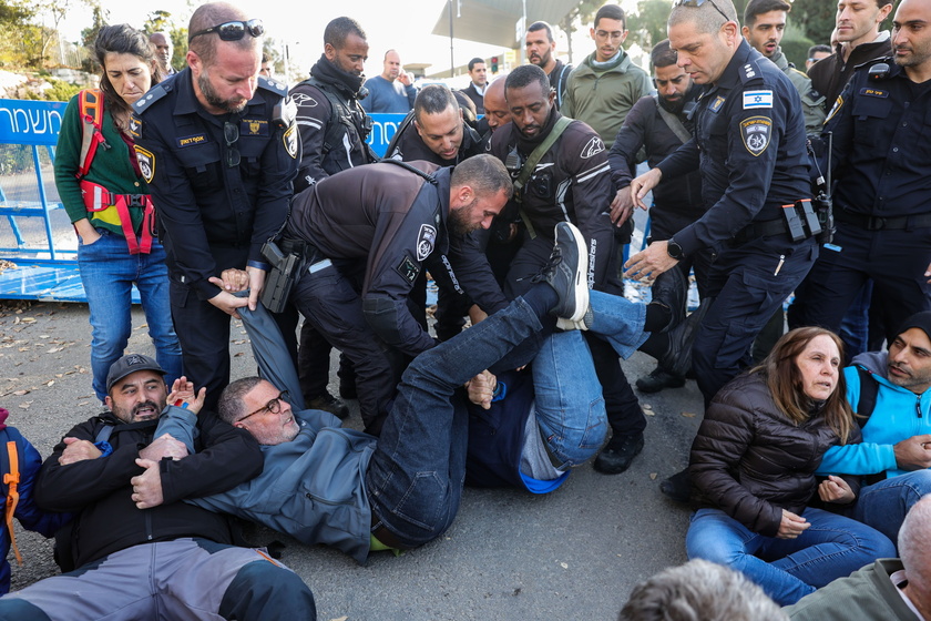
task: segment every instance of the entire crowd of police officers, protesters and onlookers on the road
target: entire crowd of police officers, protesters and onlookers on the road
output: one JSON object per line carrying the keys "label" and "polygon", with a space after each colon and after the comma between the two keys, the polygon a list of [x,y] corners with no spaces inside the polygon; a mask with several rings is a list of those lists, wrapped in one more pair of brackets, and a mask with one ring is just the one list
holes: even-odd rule
{"label": "entire crowd of police officers, protesters and onlookers on the road", "polygon": [[[473,59],[461,91],[418,90],[397,50],[366,80],[347,17],[291,88],[225,2],[195,10],[178,71],[165,33],[102,28],[55,180],[106,411],[41,467],[0,420],[8,516],[57,531],[63,571],[0,619],[313,619],[310,586],[231,516],[361,563],[439,538],[466,483],[624,472],[637,350],[642,393],[694,378],[705,415],[661,485],[695,508],[693,560],[622,619],[848,618],[850,598],[931,618],[931,0],[840,0],[810,77],[780,48],[790,10],[677,1],[651,75],[605,4],[576,67],[534,22],[529,64],[490,81]],[[406,115],[383,159],[376,112]],[[625,261],[638,207],[649,244]],[[125,355],[133,284],[154,357]],[[231,317],[260,377],[231,383]],[[364,430],[341,426],[355,398]]]}

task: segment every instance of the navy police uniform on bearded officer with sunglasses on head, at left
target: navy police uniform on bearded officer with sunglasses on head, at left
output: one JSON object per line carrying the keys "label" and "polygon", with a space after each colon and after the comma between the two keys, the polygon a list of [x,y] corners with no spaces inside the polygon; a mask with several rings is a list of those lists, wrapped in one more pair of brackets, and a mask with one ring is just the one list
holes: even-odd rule
{"label": "navy police uniform on bearded officer with sunglasses on head, at left", "polygon": [[133,106],[131,131],[165,246],[184,373],[213,409],[229,383],[229,315],[208,299],[227,268],[268,268],[262,245],[288,214],[300,143],[285,84],[258,78],[238,113],[208,113],[191,69]]}

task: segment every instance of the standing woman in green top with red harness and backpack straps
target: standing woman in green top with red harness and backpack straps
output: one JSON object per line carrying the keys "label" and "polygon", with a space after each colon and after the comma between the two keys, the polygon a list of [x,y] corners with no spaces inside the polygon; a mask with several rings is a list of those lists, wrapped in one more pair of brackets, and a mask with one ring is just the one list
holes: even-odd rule
{"label": "standing woman in green top with red harness and backpack straps", "polygon": [[132,287],[140,293],[155,358],[171,384],[182,373],[172,326],[165,251],[154,236],[155,214],[133,151],[139,128],[132,104],[162,79],[144,33],[127,24],[100,30],[93,48],[100,89],[68,103],[55,150],[55,185],[78,233],[78,266],[93,338],[91,368],[98,398],[132,332]]}

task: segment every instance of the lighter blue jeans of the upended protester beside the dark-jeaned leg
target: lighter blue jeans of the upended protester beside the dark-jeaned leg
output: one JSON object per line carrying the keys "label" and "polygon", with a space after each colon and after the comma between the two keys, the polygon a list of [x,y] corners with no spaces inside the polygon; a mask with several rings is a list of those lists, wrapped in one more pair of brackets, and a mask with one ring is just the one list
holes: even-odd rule
{"label": "lighter blue jeans of the upended protester beside the dark-jeaned leg", "polygon": [[[646,340],[646,307],[602,292],[590,292],[591,332],[628,358]],[[622,302],[623,301],[623,302]],[[591,459],[607,435],[602,387],[589,345],[579,330],[548,337],[533,359],[536,421],[562,466]]]}

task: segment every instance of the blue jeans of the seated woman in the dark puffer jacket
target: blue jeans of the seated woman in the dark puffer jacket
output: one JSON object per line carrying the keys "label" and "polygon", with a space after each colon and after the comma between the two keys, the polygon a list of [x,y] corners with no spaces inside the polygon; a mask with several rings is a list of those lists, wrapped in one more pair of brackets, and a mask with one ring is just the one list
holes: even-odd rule
{"label": "blue jeans of the seated woman in the dark puffer jacket", "polygon": [[719,509],[699,509],[685,536],[689,559],[740,571],[779,605],[789,605],[878,558],[896,556],[882,533],[843,516],[807,508],[796,539],[765,537]]}

